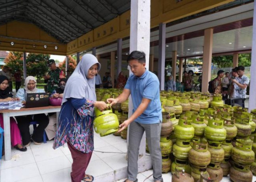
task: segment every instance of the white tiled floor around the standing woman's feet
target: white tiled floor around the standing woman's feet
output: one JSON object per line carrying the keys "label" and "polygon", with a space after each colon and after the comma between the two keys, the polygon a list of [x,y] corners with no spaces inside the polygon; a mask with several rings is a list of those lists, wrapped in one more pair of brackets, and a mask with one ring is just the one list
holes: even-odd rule
{"label": "white tiled floor around the standing woman's feet", "polygon": [[[97,177],[122,169],[127,166],[126,141],[120,137],[109,135],[99,137],[95,134],[95,150],[87,174]],[[12,150],[12,160],[1,160],[0,181],[1,182],[70,182],[70,172],[72,158],[68,147],[52,149],[53,141],[34,145],[31,143],[27,152]],[[111,152],[101,153],[99,151]],[[138,174],[139,182],[153,182],[153,170],[148,170]],[[163,174],[165,182],[172,179],[171,173]],[[253,178],[255,181],[256,177]],[[120,179],[117,182],[123,182]],[[229,178],[223,178],[224,182],[229,182]]]}

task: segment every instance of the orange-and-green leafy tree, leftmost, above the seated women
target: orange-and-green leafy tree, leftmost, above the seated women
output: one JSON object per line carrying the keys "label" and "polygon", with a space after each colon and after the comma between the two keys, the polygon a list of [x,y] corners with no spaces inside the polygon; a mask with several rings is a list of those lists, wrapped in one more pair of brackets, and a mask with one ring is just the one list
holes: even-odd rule
{"label": "orange-and-green leafy tree, leftmost, above the seated women", "polygon": [[6,66],[11,68],[11,73],[15,74],[18,70],[23,72],[23,53],[22,52],[9,52],[4,59]]}

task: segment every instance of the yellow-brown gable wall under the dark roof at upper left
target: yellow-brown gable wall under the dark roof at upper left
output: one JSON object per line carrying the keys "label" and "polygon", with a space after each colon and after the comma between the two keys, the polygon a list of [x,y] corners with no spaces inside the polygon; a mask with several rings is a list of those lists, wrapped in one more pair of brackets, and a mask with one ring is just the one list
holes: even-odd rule
{"label": "yellow-brown gable wall under the dark roof at upper left", "polygon": [[[11,42],[14,46],[11,46]],[[34,24],[11,21],[0,25],[0,50],[66,55],[67,45],[50,36]],[[35,47],[33,47],[33,44]],[[44,48],[44,45],[47,48]],[[57,50],[55,50],[57,46]],[[76,47],[77,48],[77,47]]]}

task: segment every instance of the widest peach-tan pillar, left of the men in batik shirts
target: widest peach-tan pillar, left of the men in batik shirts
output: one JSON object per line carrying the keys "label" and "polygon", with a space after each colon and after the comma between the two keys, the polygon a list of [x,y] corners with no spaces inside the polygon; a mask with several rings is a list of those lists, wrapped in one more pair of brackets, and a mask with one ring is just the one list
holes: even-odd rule
{"label": "widest peach-tan pillar, left of the men in batik shirts", "polygon": [[208,82],[211,80],[213,28],[204,30],[204,52],[203,52],[203,79],[202,92],[208,92]]}

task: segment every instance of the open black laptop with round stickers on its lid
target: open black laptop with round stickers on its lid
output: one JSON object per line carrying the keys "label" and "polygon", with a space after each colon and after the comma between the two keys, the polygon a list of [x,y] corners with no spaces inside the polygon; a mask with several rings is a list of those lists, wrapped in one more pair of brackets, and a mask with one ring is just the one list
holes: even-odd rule
{"label": "open black laptop with round stickers on its lid", "polygon": [[25,108],[49,106],[49,94],[47,93],[26,94],[25,100]]}

